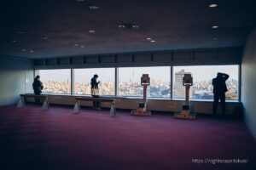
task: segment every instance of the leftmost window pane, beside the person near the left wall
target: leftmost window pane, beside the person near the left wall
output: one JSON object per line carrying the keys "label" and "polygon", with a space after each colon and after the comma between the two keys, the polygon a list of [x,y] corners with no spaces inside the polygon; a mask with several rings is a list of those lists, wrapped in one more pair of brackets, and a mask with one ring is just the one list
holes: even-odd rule
{"label": "leftmost window pane, beside the person near the left wall", "polygon": [[44,94],[71,94],[71,70],[38,70]]}

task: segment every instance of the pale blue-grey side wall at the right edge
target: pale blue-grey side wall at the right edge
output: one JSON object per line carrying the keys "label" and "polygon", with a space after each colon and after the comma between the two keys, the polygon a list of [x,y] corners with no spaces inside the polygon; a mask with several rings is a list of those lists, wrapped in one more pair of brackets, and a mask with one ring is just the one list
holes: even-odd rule
{"label": "pale blue-grey side wall at the right edge", "polygon": [[247,39],[241,61],[241,102],[247,127],[256,139],[256,27]]}

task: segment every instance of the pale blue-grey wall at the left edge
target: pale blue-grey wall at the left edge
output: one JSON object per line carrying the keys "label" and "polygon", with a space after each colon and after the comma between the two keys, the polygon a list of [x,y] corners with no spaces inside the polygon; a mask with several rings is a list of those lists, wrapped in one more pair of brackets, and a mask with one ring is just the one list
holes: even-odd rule
{"label": "pale blue-grey wall at the left edge", "polygon": [[19,94],[31,93],[32,81],[31,60],[0,56],[0,105],[14,105]]}

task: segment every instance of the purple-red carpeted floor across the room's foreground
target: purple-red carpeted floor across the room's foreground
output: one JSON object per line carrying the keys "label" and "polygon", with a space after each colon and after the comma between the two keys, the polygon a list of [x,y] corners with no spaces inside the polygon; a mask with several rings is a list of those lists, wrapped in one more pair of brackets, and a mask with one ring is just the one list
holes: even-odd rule
{"label": "purple-red carpeted floor across the room's foreground", "polygon": [[[253,169],[255,140],[243,122],[38,105],[0,107],[0,169]],[[244,163],[195,163],[193,159]],[[195,160],[194,160],[195,161]],[[255,169],[255,168],[254,168]]]}

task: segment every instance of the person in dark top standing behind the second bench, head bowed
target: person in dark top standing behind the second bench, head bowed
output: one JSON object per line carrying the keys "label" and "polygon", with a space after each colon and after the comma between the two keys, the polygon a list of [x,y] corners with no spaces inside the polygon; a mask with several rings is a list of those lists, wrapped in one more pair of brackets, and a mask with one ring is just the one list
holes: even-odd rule
{"label": "person in dark top standing behind the second bench, head bowed", "polygon": [[[90,88],[91,88],[91,96],[94,98],[98,98],[99,97],[99,83],[97,82],[97,78],[98,75],[94,75],[91,79],[90,79]],[[99,101],[93,101],[93,109],[96,110],[101,110],[101,102]]]}

